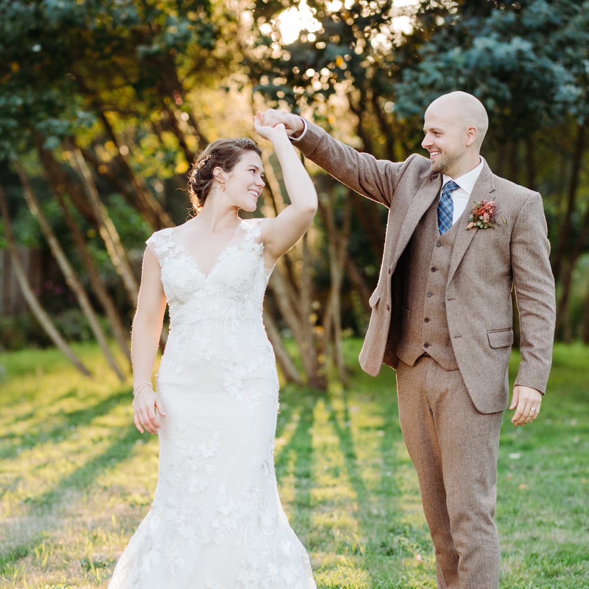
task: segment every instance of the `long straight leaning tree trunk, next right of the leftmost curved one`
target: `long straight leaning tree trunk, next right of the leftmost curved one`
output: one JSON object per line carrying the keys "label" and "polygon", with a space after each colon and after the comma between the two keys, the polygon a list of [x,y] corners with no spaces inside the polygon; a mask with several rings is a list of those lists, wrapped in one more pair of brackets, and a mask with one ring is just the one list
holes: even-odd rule
{"label": "long straight leaning tree trunk, next right of the leftmost curved one", "polygon": [[47,240],[47,243],[49,244],[49,249],[51,250],[53,257],[55,258],[55,261],[57,262],[59,269],[61,269],[61,272],[64,274],[65,283],[70,287],[71,291],[74,293],[74,296],[76,297],[78,304],[82,309],[82,313],[84,313],[84,316],[88,320],[88,323],[90,324],[90,329],[92,330],[92,333],[94,333],[98,345],[100,346],[100,349],[104,354],[104,357],[107,359],[108,364],[110,365],[114,373],[117,375],[117,378],[121,382],[124,382],[125,377],[121,370],[118,368],[117,362],[115,362],[115,359],[113,358],[111,351],[108,348],[107,336],[102,330],[100,323],[98,323],[98,318],[94,313],[94,309],[92,309],[92,304],[90,302],[90,299],[88,298],[87,292],[84,289],[84,285],[75,273],[74,268],[70,264],[70,260],[67,259],[67,256],[65,255],[64,250],[59,244],[59,241],[57,240],[57,237],[55,236],[55,233],[51,225],[49,224],[47,217],[45,217],[45,214],[43,213],[41,206],[39,206],[39,201],[37,200],[37,196],[35,196],[29,178],[27,177],[27,174],[25,174],[24,168],[21,166],[21,163],[18,160],[14,161],[14,165],[16,168],[16,173],[18,174],[18,177],[20,178],[22,183],[23,196],[25,198],[25,201],[27,202],[27,206],[29,207],[29,210],[31,211],[35,219],[37,219],[39,227],[41,227],[41,232],[43,233],[45,239]]}

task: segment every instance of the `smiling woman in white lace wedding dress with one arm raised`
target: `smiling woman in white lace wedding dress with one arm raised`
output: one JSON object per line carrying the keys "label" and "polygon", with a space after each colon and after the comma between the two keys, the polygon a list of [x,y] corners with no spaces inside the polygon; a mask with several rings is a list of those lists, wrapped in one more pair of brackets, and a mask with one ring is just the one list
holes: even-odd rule
{"label": "smiling woman in white lace wedding dress with one arm raised", "polygon": [[272,142],[291,204],[275,219],[240,219],[264,187],[261,152],[249,139],[214,141],[190,173],[198,215],[146,242],[131,334],[134,421],[141,434],[159,435],[160,468],[110,589],[315,589],[276,488],[278,379],[262,301],[276,260],[311,223],[317,194],[284,125],[254,118],[254,127]]}

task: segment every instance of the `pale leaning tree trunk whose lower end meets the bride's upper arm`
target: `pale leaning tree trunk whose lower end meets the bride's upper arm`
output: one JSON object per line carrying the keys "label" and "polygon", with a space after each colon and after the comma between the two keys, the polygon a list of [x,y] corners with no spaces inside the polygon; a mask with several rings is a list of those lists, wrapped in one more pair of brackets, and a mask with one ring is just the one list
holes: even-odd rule
{"label": "pale leaning tree trunk whose lower end meets the bride's upper arm", "polygon": [[68,152],[68,157],[70,158],[72,167],[78,171],[78,174],[80,174],[80,177],[84,181],[88,197],[90,197],[90,201],[94,207],[94,214],[99,220],[98,231],[100,236],[104,240],[108,255],[114,264],[115,270],[117,270],[117,274],[123,281],[128,299],[131,305],[135,306],[137,305],[139,286],[127,260],[127,253],[123,248],[123,244],[121,244],[117,229],[114,223],[112,223],[110,216],[108,216],[107,208],[100,200],[100,195],[94,184],[94,178],[92,178],[88,164],[76,145],[71,145],[71,151]]}

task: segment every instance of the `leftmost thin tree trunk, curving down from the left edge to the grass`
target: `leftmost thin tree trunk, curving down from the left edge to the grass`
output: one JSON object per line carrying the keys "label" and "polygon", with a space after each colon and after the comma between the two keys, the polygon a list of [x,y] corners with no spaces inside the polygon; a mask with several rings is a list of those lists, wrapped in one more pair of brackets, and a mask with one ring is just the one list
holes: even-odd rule
{"label": "leftmost thin tree trunk, curving down from the left edge to the grass", "polygon": [[57,327],[55,327],[51,321],[51,318],[47,312],[45,312],[45,309],[43,309],[41,303],[39,303],[37,300],[37,297],[31,289],[31,285],[28,283],[27,274],[22,267],[21,259],[18,255],[18,249],[14,240],[14,233],[12,233],[12,226],[8,216],[8,199],[6,198],[2,184],[0,184],[0,212],[2,213],[2,217],[4,217],[4,234],[6,236],[6,241],[8,242],[8,252],[12,259],[12,267],[14,269],[14,273],[16,274],[16,280],[18,281],[22,296],[25,297],[25,300],[31,308],[31,312],[37,318],[38,322],[41,324],[41,327],[45,333],[47,333],[55,346],[57,346],[57,348],[61,350],[62,353],[64,353],[64,355],[68,358],[68,360],[70,360],[70,362],[79,372],[81,372],[84,376],[91,376],[90,370],[84,366],[82,361],[78,358],[78,356],[75,355],[70,346],[68,346],[68,343],[62,337],[61,333],[59,333]]}

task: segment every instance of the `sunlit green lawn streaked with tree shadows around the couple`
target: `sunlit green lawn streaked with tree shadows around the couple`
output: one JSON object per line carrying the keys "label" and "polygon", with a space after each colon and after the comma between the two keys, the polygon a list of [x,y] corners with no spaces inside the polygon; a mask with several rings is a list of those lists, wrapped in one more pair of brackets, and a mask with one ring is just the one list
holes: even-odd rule
{"label": "sunlit green lawn streaked with tree shadows around the couple", "polygon": [[[276,472],[319,589],[434,589],[417,478],[399,430],[395,376],[360,371],[347,391],[284,386]],[[95,379],[55,350],[0,360],[0,587],[106,587],[150,507],[157,439],[134,429],[130,386],[93,345]],[[518,357],[512,358],[512,372]],[[505,414],[497,525],[501,587],[589,587],[589,349],[557,346],[537,422]],[[173,589],[173,588],[170,588]]]}

